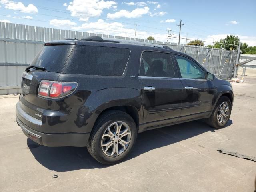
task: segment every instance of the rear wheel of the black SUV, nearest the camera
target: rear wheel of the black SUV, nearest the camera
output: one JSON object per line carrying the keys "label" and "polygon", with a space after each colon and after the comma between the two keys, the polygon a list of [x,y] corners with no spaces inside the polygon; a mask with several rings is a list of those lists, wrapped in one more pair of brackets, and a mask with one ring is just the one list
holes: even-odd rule
{"label": "rear wheel of the black SUV, nearest the camera", "polygon": [[87,149],[102,164],[122,161],[132,150],[137,138],[133,118],[125,112],[110,110],[96,121]]}

